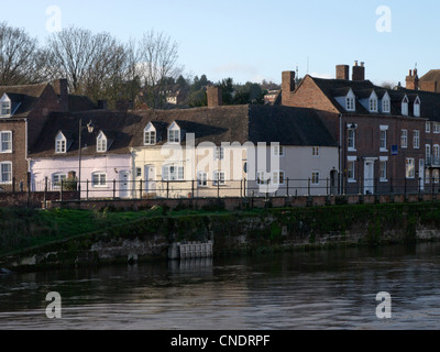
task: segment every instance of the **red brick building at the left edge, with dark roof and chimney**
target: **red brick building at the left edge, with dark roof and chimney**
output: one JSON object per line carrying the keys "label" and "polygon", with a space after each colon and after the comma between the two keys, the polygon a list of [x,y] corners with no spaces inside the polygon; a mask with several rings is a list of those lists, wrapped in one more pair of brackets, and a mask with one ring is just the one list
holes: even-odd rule
{"label": "red brick building at the left edge, with dark roof and chimney", "polygon": [[92,108],[87,98],[68,95],[65,79],[0,87],[0,191],[28,189],[28,154],[52,111]]}

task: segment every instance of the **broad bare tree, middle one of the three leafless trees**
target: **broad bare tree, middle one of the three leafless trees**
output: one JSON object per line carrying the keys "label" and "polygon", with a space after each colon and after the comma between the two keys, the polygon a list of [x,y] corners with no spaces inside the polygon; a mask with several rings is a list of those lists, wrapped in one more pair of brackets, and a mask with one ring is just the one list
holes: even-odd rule
{"label": "broad bare tree, middle one of the three leafless trees", "polygon": [[125,47],[106,32],[64,29],[48,38],[46,56],[52,78],[67,78],[73,94],[94,100],[114,97],[124,79]]}

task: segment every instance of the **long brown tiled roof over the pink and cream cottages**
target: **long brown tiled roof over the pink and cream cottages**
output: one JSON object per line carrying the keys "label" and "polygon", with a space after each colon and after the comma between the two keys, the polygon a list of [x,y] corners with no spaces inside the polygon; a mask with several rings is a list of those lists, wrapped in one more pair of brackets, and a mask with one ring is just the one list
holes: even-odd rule
{"label": "long brown tiled roof over the pink and cream cottages", "polygon": [[[113,131],[114,142],[108,153],[128,154],[130,147],[143,146],[143,131],[151,122],[158,136],[157,145],[167,142],[167,128],[176,122],[186,133],[201,142],[279,142],[282,145],[337,146],[337,142],[312,109],[270,106],[224,106],[176,110],[91,110],[77,113],[54,112],[50,116],[31,157],[78,155],[79,119],[90,120],[92,134],[82,131],[82,155],[95,155],[99,131]],[[66,154],[55,155],[58,131],[73,131],[74,143]],[[185,144],[185,141],[183,141]]]}

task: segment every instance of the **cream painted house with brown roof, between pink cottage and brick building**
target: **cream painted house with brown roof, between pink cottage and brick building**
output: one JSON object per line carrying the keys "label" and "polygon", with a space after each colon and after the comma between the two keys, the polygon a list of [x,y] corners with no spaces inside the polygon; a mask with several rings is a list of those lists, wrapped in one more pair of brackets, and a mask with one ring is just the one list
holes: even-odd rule
{"label": "cream painted house with brown roof, between pink cottage and brick building", "polygon": [[231,106],[154,111],[133,136],[133,197],[329,195],[338,146],[315,110]]}

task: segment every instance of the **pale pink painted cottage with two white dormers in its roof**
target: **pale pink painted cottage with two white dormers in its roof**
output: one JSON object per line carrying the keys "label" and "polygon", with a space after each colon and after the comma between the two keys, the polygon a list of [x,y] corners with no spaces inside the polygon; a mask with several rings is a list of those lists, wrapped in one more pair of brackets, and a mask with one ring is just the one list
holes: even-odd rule
{"label": "pale pink painted cottage with two white dormers in its roof", "polygon": [[129,129],[136,120],[106,110],[52,113],[30,153],[31,189],[77,190],[80,185],[84,199],[130,198]]}

